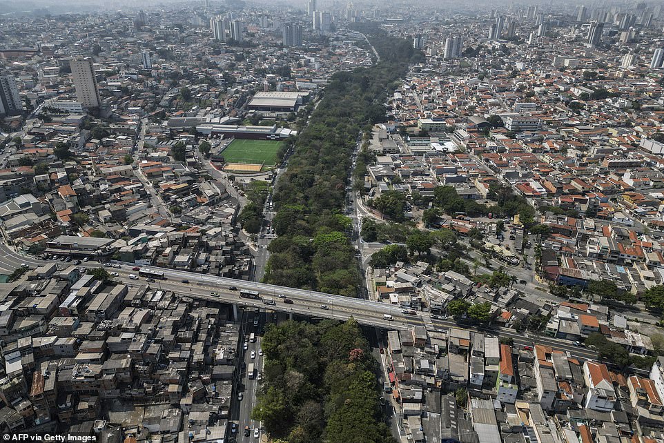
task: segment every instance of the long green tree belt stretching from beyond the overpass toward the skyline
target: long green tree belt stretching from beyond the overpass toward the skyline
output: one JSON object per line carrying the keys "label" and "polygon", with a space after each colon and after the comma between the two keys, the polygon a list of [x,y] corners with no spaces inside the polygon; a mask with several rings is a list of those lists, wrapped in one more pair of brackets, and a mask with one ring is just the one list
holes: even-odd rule
{"label": "long green tree belt stretching from beyond the overpass toward the skyline", "polygon": [[331,77],[324,97],[300,132],[289,168],[274,194],[279,238],[269,246],[264,281],[358,296],[360,273],[350,244],[351,220],[342,213],[360,129],[385,121],[383,102],[408,64],[422,60],[411,43],[361,24],[380,62]]}

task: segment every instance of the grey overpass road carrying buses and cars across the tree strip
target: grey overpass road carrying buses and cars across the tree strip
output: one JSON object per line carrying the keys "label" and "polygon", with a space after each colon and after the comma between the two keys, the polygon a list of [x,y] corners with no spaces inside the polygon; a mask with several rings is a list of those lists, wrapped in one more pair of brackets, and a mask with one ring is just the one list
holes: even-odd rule
{"label": "grey overpass road carrying buses and cars across the tree strip", "polygon": [[[8,246],[0,246],[0,268],[12,271],[26,263],[30,266],[41,266],[45,263],[43,260],[28,258],[14,253]],[[82,266],[98,267],[98,263],[84,263]],[[119,275],[115,277],[118,281],[126,284],[146,284],[144,279],[129,279],[129,274],[133,273],[131,268],[133,264],[121,264],[121,268],[113,269]],[[360,324],[375,326],[384,329],[409,330],[413,326],[425,326],[429,330],[442,331],[451,327],[460,327],[468,331],[482,332],[487,334],[496,334],[500,337],[511,338],[514,344],[522,346],[533,346],[534,344],[544,344],[567,351],[570,355],[581,359],[596,358],[597,354],[587,348],[574,346],[571,342],[555,337],[545,337],[541,335],[528,335],[528,333],[518,333],[509,328],[500,326],[476,326],[471,324],[457,324],[452,319],[433,317],[428,313],[417,313],[416,315],[406,314],[401,308],[391,306],[382,302],[372,302],[365,299],[354,299],[342,297],[340,295],[331,295],[306,289],[288,288],[285,286],[275,286],[271,284],[245,282],[237,279],[225,277],[215,277],[213,275],[202,275],[191,273],[185,270],[175,270],[167,268],[146,267],[143,269],[154,269],[164,272],[164,280],[157,280],[151,283],[152,286],[176,293],[186,295],[192,299],[199,299],[206,302],[219,302],[235,306],[248,306],[252,308],[264,308],[271,311],[281,311],[290,315],[302,315],[306,317],[333,318],[345,320],[353,317]],[[182,280],[188,280],[183,283]],[[237,290],[231,290],[231,287]],[[240,297],[240,290],[248,289],[260,293],[262,299],[247,299]],[[291,300],[292,304],[284,302]],[[274,300],[273,305],[267,305],[264,302]],[[391,316],[386,319],[385,315]]]}

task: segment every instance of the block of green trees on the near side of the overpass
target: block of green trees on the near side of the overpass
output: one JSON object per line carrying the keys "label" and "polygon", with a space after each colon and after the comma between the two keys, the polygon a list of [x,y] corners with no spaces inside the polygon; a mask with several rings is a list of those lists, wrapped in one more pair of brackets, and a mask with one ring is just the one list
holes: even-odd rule
{"label": "block of green trees on the near side of the overpass", "polygon": [[375,360],[354,319],[270,325],[262,348],[264,383],[252,417],[273,437],[393,442],[381,420]]}

